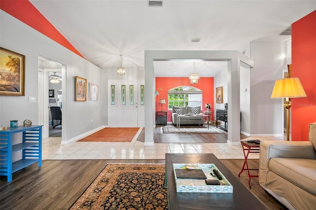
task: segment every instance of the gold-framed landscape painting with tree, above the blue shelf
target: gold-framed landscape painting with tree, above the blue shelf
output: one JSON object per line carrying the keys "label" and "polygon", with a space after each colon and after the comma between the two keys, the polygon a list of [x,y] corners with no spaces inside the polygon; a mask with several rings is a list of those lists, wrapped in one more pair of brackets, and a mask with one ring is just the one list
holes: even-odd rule
{"label": "gold-framed landscape painting with tree, above the blue shelf", "polygon": [[0,47],[0,95],[25,95],[25,56]]}

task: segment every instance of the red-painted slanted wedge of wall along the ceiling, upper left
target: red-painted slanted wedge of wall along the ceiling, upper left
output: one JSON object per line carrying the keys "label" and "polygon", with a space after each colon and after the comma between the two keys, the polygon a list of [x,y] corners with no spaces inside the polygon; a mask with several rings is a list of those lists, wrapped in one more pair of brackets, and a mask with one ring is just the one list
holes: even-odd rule
{"label": "red-painted slanted wedge of wall along the ceiling, upper left", "polygon": [[84,58],[28,0],[1,0],[0,9]]}

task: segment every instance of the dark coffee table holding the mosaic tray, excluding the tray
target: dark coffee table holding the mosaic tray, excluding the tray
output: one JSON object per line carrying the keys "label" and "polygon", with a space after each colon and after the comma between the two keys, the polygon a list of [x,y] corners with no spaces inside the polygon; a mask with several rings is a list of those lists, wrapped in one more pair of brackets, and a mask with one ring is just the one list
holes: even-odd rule
{"label": "dark coffee table holding the mosaic tray, excluding the tray", "polygon": [[[177,193],[173,164],[215,164],[233,185],[233,193]],[[213,154],[166,154],[169,210],[267,210]]]}

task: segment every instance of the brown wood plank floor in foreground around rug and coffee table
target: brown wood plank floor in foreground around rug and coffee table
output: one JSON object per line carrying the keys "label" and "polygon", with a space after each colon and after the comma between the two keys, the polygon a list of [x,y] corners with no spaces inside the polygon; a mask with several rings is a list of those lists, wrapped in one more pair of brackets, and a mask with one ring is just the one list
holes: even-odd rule
{"label": "brown wood plank floor in foreground around rug and coffee table", "polygon": [[[236,176],[243,160],[221,160]],[[1,210],[68,210],[93,182],[107,163],[158,163],[164,160],[61,160],[43,161],[13,173],[13,181],[0,177]],[[257,167],[258,160],[250,160]],[[247,186],[247,174],[240,181]],[[250,191],[270,210],[286,210],[252,179]]]}

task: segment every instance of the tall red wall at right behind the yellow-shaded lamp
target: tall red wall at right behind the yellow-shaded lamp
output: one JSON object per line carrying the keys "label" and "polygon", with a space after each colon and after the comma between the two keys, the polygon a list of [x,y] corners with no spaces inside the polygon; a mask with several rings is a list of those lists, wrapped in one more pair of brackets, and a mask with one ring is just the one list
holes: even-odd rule
{"label": "tall red wall at right behind the yellow-shaded lamp", "polygon": [[306,98],[292,99],[292,141],[308,141],[316,122],[316,11],[292,24],[292,77],[298,77]]}

